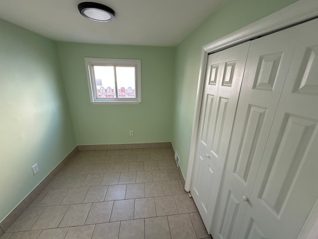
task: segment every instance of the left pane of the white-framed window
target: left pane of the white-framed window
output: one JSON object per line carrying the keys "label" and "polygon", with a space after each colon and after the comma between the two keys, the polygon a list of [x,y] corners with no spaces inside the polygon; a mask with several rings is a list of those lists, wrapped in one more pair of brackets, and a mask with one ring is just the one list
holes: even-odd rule
{"label": "left pane of the white-framed window", "polygon": [[93,66],[97,98],[116,98],[113,66]]}

